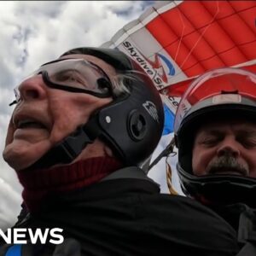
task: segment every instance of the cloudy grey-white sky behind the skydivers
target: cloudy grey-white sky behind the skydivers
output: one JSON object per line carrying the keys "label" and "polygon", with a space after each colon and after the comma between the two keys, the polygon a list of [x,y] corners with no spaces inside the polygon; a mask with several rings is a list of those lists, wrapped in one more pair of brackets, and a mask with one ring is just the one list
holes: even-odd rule
{"label": "cloudy grey-white sky behind the skydivers", "polygon": [[[13,89],[44,62],[79,46],[99,46],[135,20],[154,1],[1,1],[0,2],[0,151],[13,107]],[[161,145],[166,144],[166,138]],[[160,147],[157,149],[160,153]],[[16,221],[22,188],[0,157],[0,228]],[[166,192],[165,165],[150,172]]]}

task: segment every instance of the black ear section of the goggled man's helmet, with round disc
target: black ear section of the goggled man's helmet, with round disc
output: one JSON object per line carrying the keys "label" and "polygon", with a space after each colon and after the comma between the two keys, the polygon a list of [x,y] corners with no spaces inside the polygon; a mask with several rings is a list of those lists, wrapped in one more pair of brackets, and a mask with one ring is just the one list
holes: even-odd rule
{"label": "black ear section of the goggled man's helmet, with round disc", "polygon": [[160,95],[151,82],[136,76],[129,81],[130,93],[119,96],[97,113],[101,139],[125,165],[143,163],[160,141],[164,112]]}

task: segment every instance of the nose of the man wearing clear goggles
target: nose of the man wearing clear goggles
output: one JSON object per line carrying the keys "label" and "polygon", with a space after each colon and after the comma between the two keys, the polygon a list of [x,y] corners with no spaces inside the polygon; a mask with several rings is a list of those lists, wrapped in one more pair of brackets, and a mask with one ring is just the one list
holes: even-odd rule
{"label": "nose of the man wearing clear goggles", "polygon": [[36,75],[24,80],[20,86],[20,97],[24,101],[44,99],[46,90],[42,75]]}

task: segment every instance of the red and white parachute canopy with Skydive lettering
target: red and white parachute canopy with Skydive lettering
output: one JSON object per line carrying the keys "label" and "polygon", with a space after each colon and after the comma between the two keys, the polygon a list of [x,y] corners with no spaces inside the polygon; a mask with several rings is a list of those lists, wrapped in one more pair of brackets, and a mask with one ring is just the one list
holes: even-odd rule
{"label": "red and white parachute canopy with Skydive lettering", "polygon": [[217,67],[256,72],[255,1],[161,1],[103,47],[118,48],[143,67],[167,106],[196,76]]}

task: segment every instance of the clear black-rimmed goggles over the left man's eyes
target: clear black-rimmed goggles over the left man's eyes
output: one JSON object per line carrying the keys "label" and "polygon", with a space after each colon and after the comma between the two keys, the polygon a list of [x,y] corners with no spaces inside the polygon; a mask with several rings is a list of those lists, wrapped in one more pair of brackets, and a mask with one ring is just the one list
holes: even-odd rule
{"label": "clear black-rimmed goggles over the left man's eyes", "polygon": [[[44,83],[53,89],[86,93],[105,98],[113,96],[112,84],[108,75],[96,64],[84,59],[51,61],[39,67],[26,79],[41,74]],[[15,104],[20,101],[19,87],[15,88]]]}

